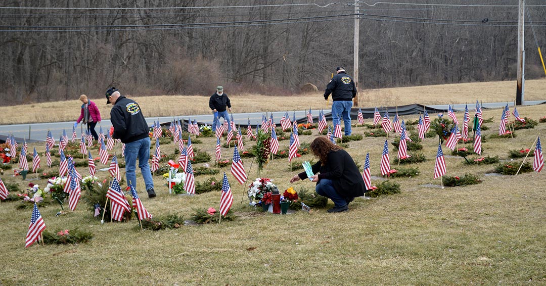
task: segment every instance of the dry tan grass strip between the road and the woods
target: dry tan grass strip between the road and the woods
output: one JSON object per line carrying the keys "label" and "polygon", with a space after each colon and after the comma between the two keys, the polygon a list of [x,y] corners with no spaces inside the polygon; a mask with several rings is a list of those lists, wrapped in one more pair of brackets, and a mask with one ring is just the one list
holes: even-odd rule
{"label": "dry tan grass strip between the road and the woods", "polygon": [[[515,81],[473,82],[469,84],[449,84],[433,86],[383,88],[363,90],[359,94],[359,104],[363,107],[395,106],[405,104],[447,104],[473,103],[476,99],[488,102],[514,102]],[[265,112],[302,109],[328,109],[322,98],[323,91],[317,94],[299,96],[259,96],[256,94],[231,94],[233,112]],[[110,115],[111,105],[105,105],[103,91],[87,95],[97,103],[104,119]],[[208,94],[208,93],[207,93]],[[212,93],[211,93],[212,94]],[[0,106],[0,124],[29,122],[75,121],[80,115],[79,94],[74,100],[49,102],[22,106]],[[145,116],[188,116],[209,114],[209,96],[155,96],[138,97],[127,95],[145,106]],[[525,81],[525,100],[546,99],[546,81]],[[331,104],[331,99],[330,99]]]}

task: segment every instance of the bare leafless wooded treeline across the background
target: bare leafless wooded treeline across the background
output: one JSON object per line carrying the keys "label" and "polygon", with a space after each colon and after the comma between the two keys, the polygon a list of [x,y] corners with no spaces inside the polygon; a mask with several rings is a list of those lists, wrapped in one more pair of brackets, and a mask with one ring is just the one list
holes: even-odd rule
{"label": "bare leafless wooded treeline across the background", "polygon": [[[0,100],[96,98],[112,85],[138,95],[207,95],[216,85],[229,94],[281,95],[299,92],[306,82],[322,89],[337,65],[353,72],[354,1],[304,5],[310,3],[316,2],[4,2],[139,9],[0,9]],[[228,5],[240,7],[221,7]],[[361,89],[515,79],[517,7],[360,5]],[[546,7],[527,10],[525,77],[533,79],[544,72],[529,16],[546,50]]]}

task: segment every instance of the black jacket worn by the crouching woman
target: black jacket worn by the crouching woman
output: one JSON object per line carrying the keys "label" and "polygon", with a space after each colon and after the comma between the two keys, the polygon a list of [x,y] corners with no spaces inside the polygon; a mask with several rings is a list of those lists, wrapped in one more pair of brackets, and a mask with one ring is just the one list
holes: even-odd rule
{"label": "black jacket worn by the crouching woman", "polygon": [[[353,158],[345,150],[330,151],[328,153],[328,162],[322,166],[321,161],[312,165],[313,174],[321,172],[318,180],[323,178],[332,180],[336,192],[341,196],[352,199],[357,196],[363,196],[366,192],[364,179],[354,163]],[[298,174],[301,180],[307,178],[305,172]]]}

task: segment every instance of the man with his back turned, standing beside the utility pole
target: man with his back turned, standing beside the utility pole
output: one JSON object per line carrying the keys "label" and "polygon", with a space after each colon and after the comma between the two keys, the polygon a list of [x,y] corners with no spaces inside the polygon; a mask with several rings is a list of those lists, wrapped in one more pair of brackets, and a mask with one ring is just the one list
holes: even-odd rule
{"label": "man with his back turned, standing beside the utility pole", "polygon": [[343,117],[345,123],[345,136],[351,135],[351,108],[353,98],[357,95],[357,87],[354,80],[349,76],[343,67],[336,68],[337,74],[328,82],[324,99],[328,100],[332,94],[332,121],[337,123],[338,117]]}

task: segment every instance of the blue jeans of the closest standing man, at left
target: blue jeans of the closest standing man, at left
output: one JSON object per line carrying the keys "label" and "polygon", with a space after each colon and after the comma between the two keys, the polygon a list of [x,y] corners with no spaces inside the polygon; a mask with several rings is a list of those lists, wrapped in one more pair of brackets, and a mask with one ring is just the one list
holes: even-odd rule
{"label": "blue jeans of the closest standing man, at left", "polygon": [[127,184],[132,184],[135,189],[136,156],[138,156],[138,166],[144,178],[146,190],[153,189],[152,172],[150,171],[150,165],[148,165],[148,160],[150,159],[150,138],[146,137],[125,144],[125,176]]}

